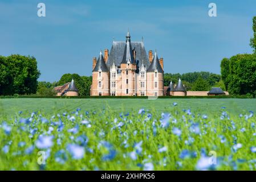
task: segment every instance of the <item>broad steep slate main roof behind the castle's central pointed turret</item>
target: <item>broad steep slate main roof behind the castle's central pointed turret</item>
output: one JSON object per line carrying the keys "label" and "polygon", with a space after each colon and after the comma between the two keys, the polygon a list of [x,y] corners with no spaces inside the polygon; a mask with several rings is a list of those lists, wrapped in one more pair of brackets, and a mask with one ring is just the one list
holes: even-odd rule
{"label": "broad steep slate main roof behind the castle's central pointed turret", "polygon": [[[123,60],[124,56],[124,49],[125,49],[125,42],[117,42],[114,41],[111,47],[111,50],[109,52],[108,61],[107,61],[107,67],[109,67],[115,63],[115,65],[120,65],[121,61]],[[135,48],[136,51],[136,63],[140,67],[142,64],[142,60],[144,65],[148,68],[150,63],[148,59],[147,52],[144,47],[143,42],[131,42],[132,49]]]}

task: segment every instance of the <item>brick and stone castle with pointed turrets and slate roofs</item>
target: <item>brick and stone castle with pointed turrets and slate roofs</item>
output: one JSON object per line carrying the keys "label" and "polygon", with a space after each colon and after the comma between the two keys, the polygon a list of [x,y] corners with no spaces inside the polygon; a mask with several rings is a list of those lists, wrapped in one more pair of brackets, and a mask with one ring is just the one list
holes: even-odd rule
{"label": "brick and stone castle with pointed turrets and slate roofs", "polygon": [[91,96],[164,96],[164,60],[144,43],[113,41],[111,51],[93,59]]}

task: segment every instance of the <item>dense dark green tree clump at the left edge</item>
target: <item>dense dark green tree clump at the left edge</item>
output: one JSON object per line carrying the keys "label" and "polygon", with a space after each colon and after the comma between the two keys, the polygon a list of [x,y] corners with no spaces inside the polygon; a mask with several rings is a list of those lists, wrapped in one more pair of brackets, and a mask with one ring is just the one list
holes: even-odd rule
{"label": "dense dark green tree clump at the left edge", "polygon": [[0,57],[0,94],[34,94],[40,72],[35,57],[11,55]]}

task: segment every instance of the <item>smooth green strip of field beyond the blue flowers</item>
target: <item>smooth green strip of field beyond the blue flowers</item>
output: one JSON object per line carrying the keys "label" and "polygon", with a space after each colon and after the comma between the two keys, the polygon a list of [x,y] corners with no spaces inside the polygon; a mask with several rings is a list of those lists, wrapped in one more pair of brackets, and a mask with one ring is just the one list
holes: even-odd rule
{"label": "smooth green strip of field beyond the blue flowers", "polygon": [[82,110],[101,110],[109,107],[117,112],[137,111],[141,108],[168,111],[173,102],[178,102],[179,109],[191,109],[199,113],[214,113],[222,106],[230,113],[240,114],[244,111],[256,112],[256,99],[237,98],[186,98],[186,99],[127,99],[127,98],[87,98],[87,99],[58,99],[58,98],[3,98],[0,99],[0,115],[13,116],[18,111],[32,113],[41,111],[46,114],[73,111],[80,107]]}

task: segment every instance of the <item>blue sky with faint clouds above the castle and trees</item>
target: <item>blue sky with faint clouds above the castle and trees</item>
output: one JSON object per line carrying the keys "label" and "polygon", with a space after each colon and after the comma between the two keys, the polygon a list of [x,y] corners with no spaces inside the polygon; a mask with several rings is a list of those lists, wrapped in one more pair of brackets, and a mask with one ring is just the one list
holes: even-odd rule
{"label": "blue sky with faint clouds above the castle and trees", "polygon": [[[46,17],[37,5],[46,5]],[[217,5],[217,17],[208,5]],[[32,55],[40,81],[64,73],[90,76],[92,57],[111,49],[113,38],[144,38],[146,51],[157,49],[164,71],[220,73],[220,61],[251,53],[256,1],[71,1],[0,0],[0,55]]]}

